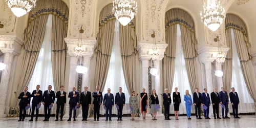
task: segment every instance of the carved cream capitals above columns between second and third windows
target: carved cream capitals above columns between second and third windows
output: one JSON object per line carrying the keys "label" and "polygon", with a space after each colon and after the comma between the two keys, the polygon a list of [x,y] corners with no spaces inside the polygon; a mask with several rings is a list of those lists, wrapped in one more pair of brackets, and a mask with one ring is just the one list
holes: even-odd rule
{"label": "carved cream capitals above columns between second and third windows", "polygon": [[[162,60],[164,57],[165,49],[167,48],[167,44],[156,44],[157,51],[159,52],[158,60]],[[140,42],[137,46],[137,50],[139,51],[139,59],[140,60],[149,60],[151,59],[151,53],[153,51],[153,43],[148,42]]]}

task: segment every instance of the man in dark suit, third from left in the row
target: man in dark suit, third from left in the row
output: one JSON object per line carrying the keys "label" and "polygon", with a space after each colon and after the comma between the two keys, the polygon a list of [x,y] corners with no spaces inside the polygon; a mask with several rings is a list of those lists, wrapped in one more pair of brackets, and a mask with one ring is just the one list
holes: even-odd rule
{"label": "man in dark suit, third from left in the row", "polygon": [[[53,105],[55,101],[55,92],[52,91],[52,86],[48,86],[48,90],[44,92],[44,95],[42,95],[42,104],[45,105],[45,119],[43,121],[49,121],[51,109],[49,109],[50,105]],[[47,114],[48,110],[48,114]]]}

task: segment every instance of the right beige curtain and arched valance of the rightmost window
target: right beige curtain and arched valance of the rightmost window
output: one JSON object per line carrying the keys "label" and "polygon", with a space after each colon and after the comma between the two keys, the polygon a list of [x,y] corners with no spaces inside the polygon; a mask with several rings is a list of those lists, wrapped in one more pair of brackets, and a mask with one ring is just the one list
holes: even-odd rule
{"label": "right beige curtain and arched valance of the rightmost window", "polygon": [[246,87],[256,105],[256,88],[255,88],[256,82],[255,82],[255,74],[252,72],[253,67],[251,62],[250,44],[249,44],[249,39],[247,35],[246,25],[244,24],[243,20],[237,15],[227,14],[225,19],[225,29],[226,29],[226,33],[228,32],[227,30],[229,30],[228,33],[230,33],[230,35],[226,34],[226,36],[230,36],[230,40],[231,40],[230,29],[233,29],[234,31],[234,37],[236,40],[238,56],[240,59],[240,64],[241,64],[244,80],[246,83]]}

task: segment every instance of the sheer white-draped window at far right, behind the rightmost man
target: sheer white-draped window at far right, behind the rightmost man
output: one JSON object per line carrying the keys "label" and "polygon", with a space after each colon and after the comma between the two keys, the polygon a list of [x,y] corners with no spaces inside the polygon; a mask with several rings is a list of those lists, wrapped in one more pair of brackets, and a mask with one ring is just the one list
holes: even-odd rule
{"label": "sheer white-draped window at far right, behind the rightmost man", "polygon": [[[232,51],[233,51],[233,61],[232,61],[232,81],[231,86],[234,87],[240,99],[239,113],[250,113],[255,112],[254,101],[251,98],[242,73],[242,68],[238,56],[236,39],[234,37],[234,31],[231,29],[231,41],[232,41]],[[229,89],[226,89],[227,92]]]}

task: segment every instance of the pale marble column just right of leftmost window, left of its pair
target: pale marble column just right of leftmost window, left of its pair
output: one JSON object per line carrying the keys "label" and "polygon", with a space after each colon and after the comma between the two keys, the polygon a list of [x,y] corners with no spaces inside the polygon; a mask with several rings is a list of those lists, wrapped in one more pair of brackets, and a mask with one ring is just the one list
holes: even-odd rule
{"label": "pale marble column just right of leftmost window, left of its pair", "polygon": [[[69,72],[69,88],[66,89],[66,92],[69,93],[72,88],[76,87],[76,80],[77,80],[77,73],[76,73],[76,66],[77,66],[77,60],[78,58],[76,56],[70,57],[70,72]],[[67,97],[67,103],[66,103],[66,112],[63,117],[69,117],[69,98]]]}

